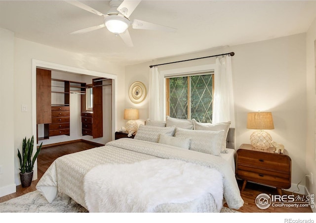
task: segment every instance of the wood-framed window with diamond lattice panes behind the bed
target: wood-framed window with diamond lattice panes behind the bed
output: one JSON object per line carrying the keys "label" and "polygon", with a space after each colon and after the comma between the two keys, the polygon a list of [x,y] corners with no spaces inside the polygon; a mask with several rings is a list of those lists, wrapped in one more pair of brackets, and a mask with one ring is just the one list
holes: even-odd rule
{"label": "wood-framed window with diamond lattice panes behind the bed", "polygon": [[212,122],[214,74],[191,74],[166,79],[166,114]]}

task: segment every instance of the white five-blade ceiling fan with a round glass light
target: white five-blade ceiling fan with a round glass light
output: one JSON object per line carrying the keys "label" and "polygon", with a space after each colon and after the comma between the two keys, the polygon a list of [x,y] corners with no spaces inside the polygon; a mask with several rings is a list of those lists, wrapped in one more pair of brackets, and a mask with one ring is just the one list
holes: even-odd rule
{"label": "white five-blade ceiling fan with a round glass light", "polygon": [[158,30],[165,32],[176,31],[176,29],[171,27],[149,23],[138,19],[130,21],[129,16],[132,14],[141,0],[111,0],[111,8],[106,14],[103,14],[86,4],[83,4],[80,1],[66,0],[66,2],[86,11],[92,12],[96,15],[103,16],[103,23],[101,25],[84,28],[82,30],[72,32],[71,34],[82,34],[106,27],[116,36],[120,36],[127,46],[132,47],[134,45],[128,32],[128,27],[130,25],[132,25],[133,29]]}

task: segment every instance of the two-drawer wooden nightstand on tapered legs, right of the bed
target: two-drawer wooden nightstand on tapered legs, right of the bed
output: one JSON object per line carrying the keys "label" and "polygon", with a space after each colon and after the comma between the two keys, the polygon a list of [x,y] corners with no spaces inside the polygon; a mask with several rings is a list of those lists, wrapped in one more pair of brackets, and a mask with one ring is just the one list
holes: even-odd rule
{"label": "two-drawer wooden nightstand on tapered legs, right of the bed", "polygon": [[273,148],[256,149],[249,144],[242,144],[237,150],[236,176],[243,180],[241,191],[247,181],[268,186],[275,186],[281,195],[282,188],[291,187],[291,158],[286,150],[277,154]]}

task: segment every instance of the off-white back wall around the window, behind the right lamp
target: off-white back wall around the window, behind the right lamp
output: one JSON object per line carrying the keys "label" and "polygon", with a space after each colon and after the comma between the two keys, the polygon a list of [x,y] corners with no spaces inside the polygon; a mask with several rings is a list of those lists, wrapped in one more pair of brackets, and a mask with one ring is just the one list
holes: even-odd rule
{"label": "off-white back wall around the window, behind the right lamp", "polygon": [[[126,90],[134,81],[148,87],[149,65],[180,61],[235,52],[232,57],[233,84],[236,112],[236,143],[250,144],[254,130],[246,129],[247,112],[271,111],[275,129],[270,130],[273,140],[285,145],[292,158],[292,186],[306,173],[306,47],[305,34],[276,38],[221,49],[206,50],[183,56],[170,57],[125,68]],[[159,66],[166,71],[181,67],[214,64],[215,58],[194,60]],[[126,91],[126,106],[130,106]],[[134,106],[135,107],[135,106]],[[148,103],[140,107],[140,119],[148,117]],[[301,184],[304,185],[304,182]],[[300,192],[304,193],[304,187]]]}

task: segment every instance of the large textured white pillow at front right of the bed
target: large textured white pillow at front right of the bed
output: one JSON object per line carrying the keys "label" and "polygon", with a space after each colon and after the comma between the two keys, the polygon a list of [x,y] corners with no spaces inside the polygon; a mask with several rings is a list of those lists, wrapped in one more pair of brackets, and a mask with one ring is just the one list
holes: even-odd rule
{"label": "large textured white pillow at front right of the bed", "polygon": [[175,129],[175,137],[184,137],[190,139],[190,148],[198,152],[208,153],[219,156],[223,148],[223,140],[225,139],[225,130],[205,131],[205,130],[189,130],[177,128]]}

